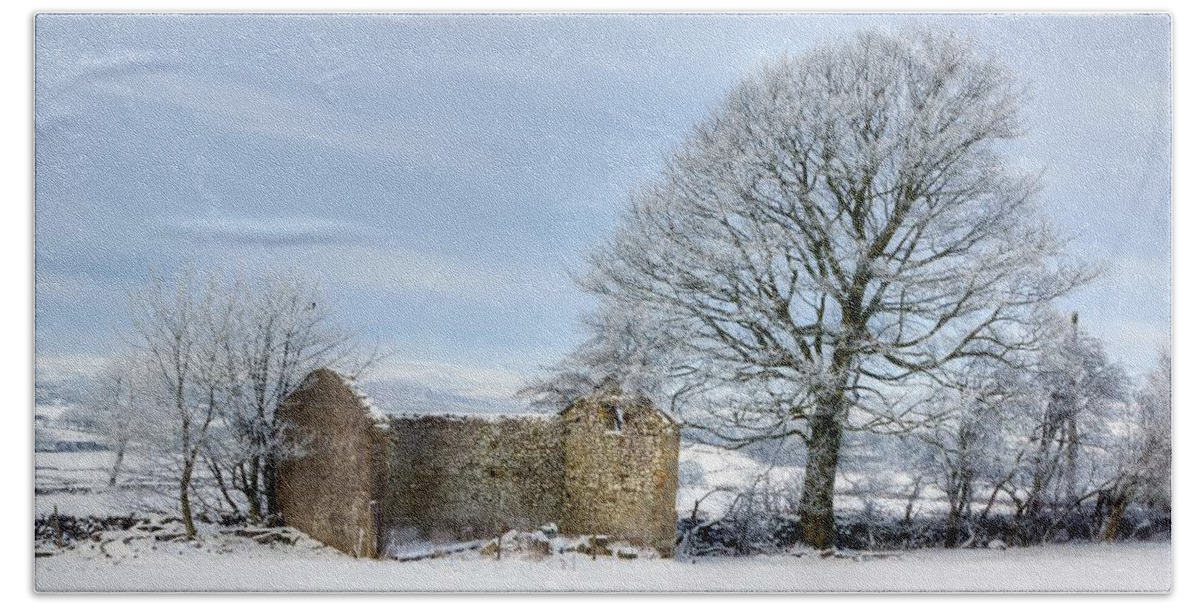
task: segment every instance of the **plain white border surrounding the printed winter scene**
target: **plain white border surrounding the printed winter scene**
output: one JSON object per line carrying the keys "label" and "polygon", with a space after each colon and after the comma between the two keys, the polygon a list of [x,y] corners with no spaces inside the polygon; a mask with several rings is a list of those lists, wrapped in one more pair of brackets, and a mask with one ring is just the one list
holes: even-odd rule
{"label": "plain white border surrounding the printed winter scene", "polygon": [[[1096,11],[1170,11],[1174,26],[1174,62],[1175,62],[1175,131],[1174,131],[1174,234],[1180,239],[1175,241],[1174,248],[1175,267],[1182,271],[1174,276],[1174,301],[1172,309],[1183,314],[1176,315],[1177,321],[1174,327],[1175,343],[1178,344],[1175,354],[1176,373],[1176,408],[1175,416],[1175,446],[1176,446],[1176,483],[1175,505],[1182,517],[1175,522],[1175,591],[1165,598],[1169,603],[1187,602],[1193,604],[1198,594],[1194,576],[1195,560],[1194,550],[1190,548],[1196,543],[1195,529],[1196,519],[1187,513],[1186,508],[1192,504],[1195,492],[1187,483],[1190,475],[1189,464],[1194,459],[1195,441],[1190,441],[1192,433],[1196,431],[1195,408],[1193,402],[1198,395],[1194,375],[1188,372],[1196,369],[1196,323],[1195,317],[1189,312],[1195,302],[1195,275],[1189,272],[1190,263],[1200,259],[1196,255],[1196,247],[1200,239],[1192,237],[1190,231],[1198,227],[1195,221],[1196,206],[1200,198],[1195,195],[1196,158],[1194,153],[1195,113],[1192,108],[1198,104],[1195,92],[1195,47],[1198,31],[1196,10],[1193,4],[1183,0],[1159,1],[1152,5],[1124,1],[1058,1],[1052,5],[1037,2],[962,2],[962,1],[923,1],[914,5],[892,6],[878,1],[840,0],[836,2],[797,2],[780,0],[752,0],[750,2],[713,2],[713,1],[662,1],[662,0],[614,0],[614,1],[586,1],[586,2],[562,2],[546,0],[445,0],[436,1],[383,1],[383,0],[355,0],[344,5],[332,2],[317,2],[305,0],[277,0],[277,1],[253,1],[250,4],[238,1],[188,1],[179,5],[169,5],[160,1],[121,1],[121,2],[34,2],[17,0],[6,2],[2,11],[2,44],[5,61],[5,84],[8,92],[4,96],[5,112],[4,125],[4,162],[0,163],[2,170],[2,183],[7,187],[8,194],[2,209],[2,221],[0,230],[4,230],[0,243],[2,254],[0,259],[0,271],[2,279],[0,284],[7,285],[8,290],[2,299],[5,323],[2,325],[4,349],[4,384],[10,387],[6,391],[6,403],[4,403],[5,421],[2,445],[6,450],[6,463],[4,477],[0,483],[8,489],[6,493],[10,500],[2,504],[2,518],[5,525],[0,528],[0,537],[5,538],[5,564],[0,568],[4,574],[2,586],[7,600],[16,604],[24,604],[34,601],[85,601],[102,604],[125,604],[126,602],[144,603],[160,602],[162,596],[70,596],[70,597],[35,597],[32,595],[32,558],[30,552],[30,528],[31,528],[31,488],[32,488],[32,16],[35,12],[90,12],[90,11],[144,11],[144,12],[202,12],[202,11],[250,11],[250,12],[394,12],[394,11],[419,11],[419,12],[444,12],[444,11],[630,11],[630,12],[720,12],[720,11],[839,11],[839,12],[1043,12],[1043,11],[1070,11],[1070,12],[1096,12]],[[1190,112],[1189,112],[1190,110]],[[203,604],[239,604],[257,606],[263,602],[277,604],[280,602],[295,601],[322,601],[332,600],[330,597],[296,597],[296,596],[235,596],[235,597],[170,597],[169,600],[200,602]],[[347,600],[343,596],[337,601]],[[622,603],[632,602],[637,604],[661,604],[686,603],[692,604],[725,604],[738,601],[733,597],[724,596],[637,596],[616,598],[612,596],[572,596],[570,598],[556,596],[502,596],[502,597],[478,597],[478,596],[438,596],[438,597],[389,597],[389,596],[355,596],[352,601],[382,601],[382,602],[420,602],[420,603],[446,603],[446,602],[487,602],[490,604],[520,606],[527,602],[547,603],[581,602],[586,604],[608,603],[619,601]],[[1189,601],[1190,600],[1190,601]],[[925,604],[961,602],[962,596],[755,596],[754,602],[766,602],[778,606],[794,606],[797,602],[804,604],[826,604],[836,602],[871,603],[871,604]],[[1020,602],[1032,606],[1060,606],[1092,603],[1092,602],[1126,602],[1139,601],[1129,596],[974,596],[968,601],[985,603],[992,602]],[[1160,597],[1141,597],[1140,601],[1163,601]],[[6,606],[12,603],[5,602]]]}

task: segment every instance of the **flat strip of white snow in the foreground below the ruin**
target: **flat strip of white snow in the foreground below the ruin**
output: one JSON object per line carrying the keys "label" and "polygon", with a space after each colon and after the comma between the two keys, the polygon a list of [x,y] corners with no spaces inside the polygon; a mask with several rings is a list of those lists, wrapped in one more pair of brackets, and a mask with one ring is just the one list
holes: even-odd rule
{"label": "flat strip of white snow in the foreground below the ruin", "polygon": [[[854,561],[800,558],[356,560],[245,540],[172,543],[109,559],[38,558],[38,591],[1168,591],[1166,543],[928,549]],[[161,544],[161,543],[160,543]]]}

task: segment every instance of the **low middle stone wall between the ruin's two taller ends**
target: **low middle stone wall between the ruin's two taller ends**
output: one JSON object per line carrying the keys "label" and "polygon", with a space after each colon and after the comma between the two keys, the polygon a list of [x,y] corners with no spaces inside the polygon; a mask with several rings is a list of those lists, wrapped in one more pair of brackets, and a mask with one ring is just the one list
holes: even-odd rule
{"label": "low middle stone wall between the ruin's two taller ends", "polygon": [[470,540],[557,522],[563,450],[548,417],[391,417],[385,542]]}

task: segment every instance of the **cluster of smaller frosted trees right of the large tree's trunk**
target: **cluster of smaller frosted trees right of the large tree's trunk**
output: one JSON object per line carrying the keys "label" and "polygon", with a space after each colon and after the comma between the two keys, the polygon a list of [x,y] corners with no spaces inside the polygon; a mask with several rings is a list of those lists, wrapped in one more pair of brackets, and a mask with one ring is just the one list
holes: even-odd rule
{"label": "cluster of smaller frosted trees right of the large tree's trunk", "polygon": [[1026,366],[972,369],[938,395],[944,419],[908,438],[900,462],[947,498],[946,547],[1000,502],[1021,542],[1116,540],[1134,504],[1169,517],[1170,355],[1135,387],[1076,319],[1049,319]]}

